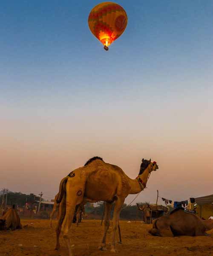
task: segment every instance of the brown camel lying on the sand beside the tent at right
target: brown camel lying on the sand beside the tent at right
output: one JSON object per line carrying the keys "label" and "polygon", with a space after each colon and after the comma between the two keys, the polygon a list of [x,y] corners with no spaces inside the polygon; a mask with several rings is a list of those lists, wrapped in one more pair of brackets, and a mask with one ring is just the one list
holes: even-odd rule
{"label": "brown camel lying on the sand beside the tent at right", "polygon": [[153,221],[149,233],[153,236],[208,236],[206,231],[213,229],[213,220],[204,221],[183,208],[173,210]]}

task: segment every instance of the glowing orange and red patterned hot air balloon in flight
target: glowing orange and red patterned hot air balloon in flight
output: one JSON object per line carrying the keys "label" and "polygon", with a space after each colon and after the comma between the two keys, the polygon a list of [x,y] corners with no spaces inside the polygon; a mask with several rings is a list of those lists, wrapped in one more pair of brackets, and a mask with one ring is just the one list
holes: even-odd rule
{"label": "glowing orange and red patterned hot air balloon in flight", "polygon": [[104,44],[104,49],[108,51],[109,45],[126,29],[127,13],[117,3],[99,3],[90,12],[88,23],[92,34]]}

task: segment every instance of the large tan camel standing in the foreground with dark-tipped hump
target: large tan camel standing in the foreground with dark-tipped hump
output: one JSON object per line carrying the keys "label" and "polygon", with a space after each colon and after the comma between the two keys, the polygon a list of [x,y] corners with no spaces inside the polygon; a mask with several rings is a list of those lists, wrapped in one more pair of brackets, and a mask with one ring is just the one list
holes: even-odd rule
{"label": "large tan camel standing in the foreground with dark-tipped hump", "polygon": [[59,219],[56,228],[56,250],[59,249],[60,231],[72,256],[70,230],[76,205],[86,202],[105,202],[104,236],[100,250],[107,250],[106,236],[112,204],[115,203],[112,227],[111,251],[115,252],[115,234],[121,207],[129,194],[138,194],[146,188],[148,177],[156,171],[156,162],[142,159],[138,177],[131,179],[115,165],[105,163],[101,157],[92,157],[83,167],[75,169],[60,182],[57,203],[60,203]]}

